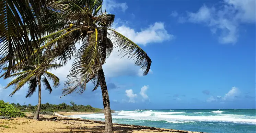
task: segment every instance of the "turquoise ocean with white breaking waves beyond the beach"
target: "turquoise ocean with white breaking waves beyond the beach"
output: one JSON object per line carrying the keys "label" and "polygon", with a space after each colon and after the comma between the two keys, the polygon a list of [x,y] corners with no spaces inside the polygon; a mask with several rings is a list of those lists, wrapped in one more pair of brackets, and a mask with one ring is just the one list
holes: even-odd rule
{"label": "turquoise ocean with white breaking waves beyond the beach", "polygon": [[[73,115],[104,121],[104,114]],[[211,133],[256,133],[256,109],[117,110],[113,123]]]}

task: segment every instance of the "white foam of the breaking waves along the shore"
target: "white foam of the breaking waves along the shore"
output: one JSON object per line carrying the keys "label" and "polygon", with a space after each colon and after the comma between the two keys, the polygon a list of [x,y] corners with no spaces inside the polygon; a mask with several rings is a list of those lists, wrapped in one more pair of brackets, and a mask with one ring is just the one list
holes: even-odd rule
{"label": "white foam of the breaking waves along the shore", "polygon": [[[254,116],[245,116],[240,114],[221,114],[217,116],[193,116],[193,113],[185,112],[162,112],[162,111],[115,111],[112,118],[115,119],[129,119],[129,120],[150,120],[150,121],[167,121],[170,123],[185,123],[188,121],[214,121],[214,122],[234,122],[234,123],[250,123],[256,124]],[[218,111],[219,112],[219,111]],[[212,112],[214,113],[214,112]],[[185,115],[183,115],[185,114]],[[71,117],[83,117],[90,119],[104,119],[104,114],[85,114],[74,115]]]}

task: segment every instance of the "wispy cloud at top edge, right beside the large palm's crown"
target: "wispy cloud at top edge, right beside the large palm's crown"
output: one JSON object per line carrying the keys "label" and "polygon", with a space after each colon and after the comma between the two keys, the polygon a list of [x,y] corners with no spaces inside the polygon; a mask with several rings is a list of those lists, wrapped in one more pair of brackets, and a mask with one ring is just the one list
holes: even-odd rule
{"label": "wispy cloud at top edge, right beside the large palm's crown", "polygon": [[114,11],[116,9],[120,9],[123,12],[125,12],[128,9],[128,6],[127,6],[126,2],[118,3],[115,0],[104,0],[102,9],[105,9],[105,8],[108,12]]}

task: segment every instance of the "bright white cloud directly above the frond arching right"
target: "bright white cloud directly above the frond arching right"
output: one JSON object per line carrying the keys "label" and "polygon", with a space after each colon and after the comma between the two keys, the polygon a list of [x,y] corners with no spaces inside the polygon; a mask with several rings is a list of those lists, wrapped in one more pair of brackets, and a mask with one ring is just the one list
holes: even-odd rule
{"label": "bright white cloud directly above the frond arching right", "polygon": [[149,43],[161,43],[165,40],[173,39],[174,36],[168,34],[164,27],[164,23],[155,22],[146,29],[141,29],[140,32],[135,32],[134,29],[122,25],[115,28],[117,32],[123,34],[133,42],[146,46]]}

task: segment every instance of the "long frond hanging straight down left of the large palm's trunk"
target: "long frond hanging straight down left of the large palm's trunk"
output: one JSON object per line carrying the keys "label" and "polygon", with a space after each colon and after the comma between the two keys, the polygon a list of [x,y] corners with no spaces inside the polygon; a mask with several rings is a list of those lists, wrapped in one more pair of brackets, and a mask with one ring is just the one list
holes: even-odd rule
{"label": "long frond hanging straight down left of the large palm's trunk", "polygon": [[63,95],[73,93],[79,89],[80,94],[86,89],[88,79],[94,75],[100,65],[101,55],[98,52],[98,32],[92,33],[88,37],[88,41],[84,43],[75,54],[74,63],[68,75],[68,81],[62,89]]}

